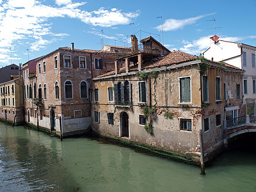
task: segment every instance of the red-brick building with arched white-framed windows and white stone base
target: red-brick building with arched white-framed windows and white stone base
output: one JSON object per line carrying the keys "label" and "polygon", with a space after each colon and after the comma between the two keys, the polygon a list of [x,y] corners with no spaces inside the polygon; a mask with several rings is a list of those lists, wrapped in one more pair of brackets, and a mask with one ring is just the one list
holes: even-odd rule
{"label": "red-brick building with arched white-framed windows and white stone base", "polygon": [[38,58],[35,76],[26,76],[25,65],[26,122],[63,136],[87,132],[92,78],[114,70],[115,59],[124,55],[122,49],[81,50],[72,44]]}

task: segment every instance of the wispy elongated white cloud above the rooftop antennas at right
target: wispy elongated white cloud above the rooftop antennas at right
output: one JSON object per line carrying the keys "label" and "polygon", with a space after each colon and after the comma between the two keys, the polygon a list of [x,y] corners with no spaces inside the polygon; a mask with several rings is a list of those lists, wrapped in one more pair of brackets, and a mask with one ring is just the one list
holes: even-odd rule
{"label": "wispy elongated white cloud above the rooftop antennas at right", "polygon": [[[164,31],[175,31],[177,29],[182,29],[184,26],[188,26],[191,24],[195,24],[198,19],[203,17],[214,15],[215,13],[206,14],[206,15],[198,15],[196,17],[189,17],[187,19],[166,19],[163,23],[163,30]],[[157,30],[161,31],[162,26],[159,25],[156,27]]]}

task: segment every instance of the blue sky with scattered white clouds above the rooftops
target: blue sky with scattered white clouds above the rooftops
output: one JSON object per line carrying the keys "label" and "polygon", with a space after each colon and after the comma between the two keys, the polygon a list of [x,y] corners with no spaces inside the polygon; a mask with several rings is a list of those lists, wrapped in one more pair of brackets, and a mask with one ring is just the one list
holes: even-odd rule
{"label": "blue sky with scattered white clouds above the rooftops", "polygon": [[138,40],[151,35],[170,51],[196,56],[215,34],[256,46],[255,7],[256,0],[0,0],[0,67],[72,42],[76,49],[131,47],[133,33]]}

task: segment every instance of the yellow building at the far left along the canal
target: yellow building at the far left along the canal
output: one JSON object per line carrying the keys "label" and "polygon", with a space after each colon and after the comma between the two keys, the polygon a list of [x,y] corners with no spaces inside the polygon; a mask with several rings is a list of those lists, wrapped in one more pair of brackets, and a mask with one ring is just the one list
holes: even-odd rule
{"label": "yellow building at the far left along the canal", "polygon": [[13,76],[13,80],[0,84],[0,118],[16,125],[24,123],[23,80]]}

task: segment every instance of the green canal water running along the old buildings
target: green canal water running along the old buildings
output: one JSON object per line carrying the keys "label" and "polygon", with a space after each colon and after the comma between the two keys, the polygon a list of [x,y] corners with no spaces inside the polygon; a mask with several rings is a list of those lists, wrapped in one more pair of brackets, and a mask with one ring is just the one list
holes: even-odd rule
{"label": "green canal water running along the old buildings", "polygon": [[256,191],[256,152],[222,153],[200,175],[131,148],[0,123],[0,191]]}

